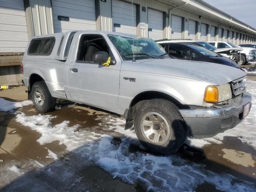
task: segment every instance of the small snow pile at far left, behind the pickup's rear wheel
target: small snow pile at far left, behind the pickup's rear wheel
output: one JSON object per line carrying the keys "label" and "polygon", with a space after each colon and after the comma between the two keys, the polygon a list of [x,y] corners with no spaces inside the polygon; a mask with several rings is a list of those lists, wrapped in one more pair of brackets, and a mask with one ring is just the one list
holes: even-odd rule
{"label": "small snow pile at far left, behind the pickup's rear wheel", "polygon": [[22,101],[22,102],[11,102],[0,98],[0,111],[8,112],[10,110],[14,110],[16,108],[20,108],[27,105],[32,105],[33,102],[30,100]]}

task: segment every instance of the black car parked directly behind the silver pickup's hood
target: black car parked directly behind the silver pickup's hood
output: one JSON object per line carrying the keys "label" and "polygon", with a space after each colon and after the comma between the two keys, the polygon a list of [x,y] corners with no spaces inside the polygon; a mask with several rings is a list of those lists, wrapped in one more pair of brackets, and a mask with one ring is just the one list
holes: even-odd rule
{"label": "black car parked directly behind the silver pickup's hood", "polygon": [[157,43],[165,49],[169,56],[179,59],[218,63],[240,68],[236,62],[205,48],[196,41],[190,42],[188,40],[186,42],[175,42],[164,40],[163,42],[157,41]]}

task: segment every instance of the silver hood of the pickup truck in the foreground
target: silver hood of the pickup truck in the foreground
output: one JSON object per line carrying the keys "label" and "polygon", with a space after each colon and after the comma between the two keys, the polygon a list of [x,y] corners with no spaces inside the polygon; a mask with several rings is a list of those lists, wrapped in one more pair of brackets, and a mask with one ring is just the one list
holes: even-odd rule
{"label": "silver hood of the pickup truck in the foreground", "polygon": [[180,59],[144,59],[124,61],[122,70],[176,76],[222,85],[246,75],[240,69],[223,64]]}

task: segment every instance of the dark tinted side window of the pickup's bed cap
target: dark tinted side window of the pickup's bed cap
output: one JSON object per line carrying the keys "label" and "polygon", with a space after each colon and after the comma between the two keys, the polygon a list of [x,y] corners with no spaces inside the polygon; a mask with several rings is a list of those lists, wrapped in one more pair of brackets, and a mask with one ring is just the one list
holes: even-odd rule
{"label": "dark tinted side window of the pickup's bed cap", "polygon": [[54,37],[33,39],[28,48],[28,55],[50,55],[54,44]]}

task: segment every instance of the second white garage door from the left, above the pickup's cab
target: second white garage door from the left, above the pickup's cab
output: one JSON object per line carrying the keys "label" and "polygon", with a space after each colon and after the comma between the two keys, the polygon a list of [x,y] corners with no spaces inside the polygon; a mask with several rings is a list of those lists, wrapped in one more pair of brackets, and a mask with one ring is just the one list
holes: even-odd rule
{"label": "second white garage door from the left, above the pickup's cab", "polygon": [[94,0],[52,0],[52,12],[55,33],[96,30]]}

